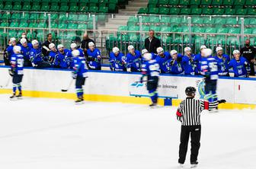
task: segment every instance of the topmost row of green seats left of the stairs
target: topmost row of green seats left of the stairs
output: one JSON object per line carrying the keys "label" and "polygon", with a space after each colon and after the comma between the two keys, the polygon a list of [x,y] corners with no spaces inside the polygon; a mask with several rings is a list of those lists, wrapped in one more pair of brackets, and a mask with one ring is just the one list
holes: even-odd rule
{"label": "topmost row of green seats left of the stairs", "polygon": [[117,11],[117,4],[84,4],[84,3],[76,3],[76,2],[14,2],[14,5],[11,2],[5,2],[5,5],[0,3],[0,8],[6,11],[60,11],[60,12],[91,12],[91,13],[107,13],[107,12],[116,12]]}

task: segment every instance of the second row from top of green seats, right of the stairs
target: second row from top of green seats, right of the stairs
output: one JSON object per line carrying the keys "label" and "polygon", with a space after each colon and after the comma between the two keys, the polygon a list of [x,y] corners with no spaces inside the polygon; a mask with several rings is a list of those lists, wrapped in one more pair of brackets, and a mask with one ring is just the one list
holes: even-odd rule
{"label": "second row from top of green seats, right of the stairs", "polygon": [[171,15],[255,15],[255,8],[139,8],[138,14],[171,14]]}

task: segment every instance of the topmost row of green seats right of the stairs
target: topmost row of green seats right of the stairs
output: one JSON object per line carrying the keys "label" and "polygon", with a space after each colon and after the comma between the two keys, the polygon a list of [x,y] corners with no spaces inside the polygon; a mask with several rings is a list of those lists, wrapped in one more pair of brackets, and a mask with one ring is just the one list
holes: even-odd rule
{"label": "topmost row of green seats right of the stairs", "polygon": [[189,6],[189,5],[200,5],[202,7],[207,6],[251,6],[256,5],[256,0],[149,0],[149,8],[157,6]]}

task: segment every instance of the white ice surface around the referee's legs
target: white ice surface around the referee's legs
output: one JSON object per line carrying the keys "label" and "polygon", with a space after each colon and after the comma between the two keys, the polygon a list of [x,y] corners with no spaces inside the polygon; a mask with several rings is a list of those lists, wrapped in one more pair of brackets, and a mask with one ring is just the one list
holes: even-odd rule
{"label": "white ice surface around the referee's legs", "polygon": [[[177,107],[0,95],[2,169],[178,168]],[[256,168],[256,110],[202,113],[197,168]],[[184,168],[190,168],[190,146]]]}

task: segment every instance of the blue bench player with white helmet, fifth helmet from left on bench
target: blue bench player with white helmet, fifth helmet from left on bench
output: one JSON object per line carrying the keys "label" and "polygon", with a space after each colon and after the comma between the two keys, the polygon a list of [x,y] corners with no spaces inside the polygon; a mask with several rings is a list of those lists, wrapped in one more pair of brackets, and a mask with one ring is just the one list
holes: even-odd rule
{"label": "blue bench player with white helmet, fifth helmet from left on bench", "polygon": [[57,46],[58,48],[58,57],[56,59],[56,62],[59,63],[59,68],[67,69],[69,67],[68,59],[66,57],[67,53],[69,53],[69,49],[64,49],[64,46],[62,44],[59,44]]}

